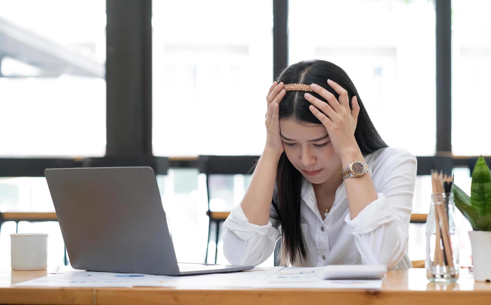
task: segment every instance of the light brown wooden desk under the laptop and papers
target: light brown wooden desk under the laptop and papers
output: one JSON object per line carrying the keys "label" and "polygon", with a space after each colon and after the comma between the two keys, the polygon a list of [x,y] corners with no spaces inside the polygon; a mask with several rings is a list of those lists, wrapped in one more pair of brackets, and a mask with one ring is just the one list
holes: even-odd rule
{"label": "light brown wooden desk under the laptop and papers", "polygon": [[[49,272],[66,270],[57,267]],[[47,271],[0,271],[0,304],[491,304],[491,283],[474,282],[461,269],[457,283],[432,283],[425,269],[389,271],[382,290],[162,288],[24,288],[11,284],[43,277]]]}

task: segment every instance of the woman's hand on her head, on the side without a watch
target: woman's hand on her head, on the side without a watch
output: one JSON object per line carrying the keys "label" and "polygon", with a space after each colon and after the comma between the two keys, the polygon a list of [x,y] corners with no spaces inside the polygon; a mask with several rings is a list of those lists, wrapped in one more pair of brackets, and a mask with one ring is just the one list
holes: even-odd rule
{"label": "woman's hand on her head, on the side without a watch", "polygon": [[268,103],[268,112],[266,112],[266,147],[265,150],[272,152],[273,154],[281,155],[284,151],[283,140],[279,131],[279,103],[285,97],[284,84],[274,82],[266,101]]}

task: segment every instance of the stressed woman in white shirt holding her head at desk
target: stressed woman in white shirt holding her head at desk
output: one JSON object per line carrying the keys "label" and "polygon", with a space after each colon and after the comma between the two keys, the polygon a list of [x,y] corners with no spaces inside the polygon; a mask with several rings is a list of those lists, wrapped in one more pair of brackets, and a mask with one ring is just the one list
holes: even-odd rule
{"label": "stressed woman in white shirt holding her head at desk", "polygon": [[282,237],[285,266],[410,268],[416,158],[385,144],[346,72],[324,60],[293,64],[267,102],[263,154],[223,224],[227,260],[258,265]]}

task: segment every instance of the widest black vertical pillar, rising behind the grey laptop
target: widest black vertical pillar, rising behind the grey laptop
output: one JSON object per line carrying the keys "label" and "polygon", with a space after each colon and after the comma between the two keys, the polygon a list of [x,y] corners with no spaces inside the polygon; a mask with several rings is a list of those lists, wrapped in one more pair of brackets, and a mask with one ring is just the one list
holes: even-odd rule
{"label": "widest black vertical pillar, rising behind the grey laptop", "polygon": [[106,6],[106,156],[151,156],[152,0]]}

